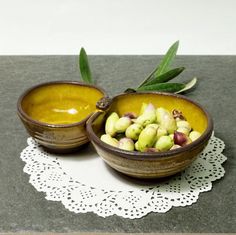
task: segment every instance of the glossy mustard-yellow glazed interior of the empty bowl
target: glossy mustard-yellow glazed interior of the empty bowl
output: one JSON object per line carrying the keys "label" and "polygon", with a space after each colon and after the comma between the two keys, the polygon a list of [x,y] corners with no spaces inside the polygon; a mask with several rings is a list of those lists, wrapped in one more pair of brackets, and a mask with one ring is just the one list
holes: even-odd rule
{"label": "glossy mustard-yellow glazed interior of the empty bowl", "polygon": [[31,119],[56,125],[80,122],[96,110],[104,93],[93,86],[76,83],[44,84],[30,90],[21,100],[22,111]]}

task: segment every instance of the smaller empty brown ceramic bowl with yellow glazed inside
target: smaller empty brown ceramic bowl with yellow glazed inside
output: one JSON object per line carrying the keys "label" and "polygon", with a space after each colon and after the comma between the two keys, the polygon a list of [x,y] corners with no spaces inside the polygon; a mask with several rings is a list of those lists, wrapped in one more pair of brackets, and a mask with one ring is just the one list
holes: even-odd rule
{"label": "smaller empty brown ceramic bowl with yellow glazed inside", "polygon": [[28,133],[53,152],[70,152],[89,140],[86,121],[105,92],[93,85],[55,81],[34,86],[17,103]]}

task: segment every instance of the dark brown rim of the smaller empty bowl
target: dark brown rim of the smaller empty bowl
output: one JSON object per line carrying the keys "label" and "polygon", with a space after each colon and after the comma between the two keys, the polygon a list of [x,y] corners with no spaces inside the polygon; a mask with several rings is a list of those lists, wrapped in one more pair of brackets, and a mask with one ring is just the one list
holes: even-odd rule
{"label": "dark brown rim of the smaller empty bowl", "polygon": [[28,89],[26,89],[18,98],[18,101],[17,101],[17,113],[18,115],[23,118],[24,120],[28,121],[28,122],[31,122],[35,125],[38,125],[38,126],[44,126],[44,127],[52,127],[52,128],[70,128],[70,127],[74,127],[74,126],[78,126],[78,125],[81,125],[81,124],[85,124],[86,121],[89,119],[89,117],[92,116],[92,114],[94,114],[96,112],[96,110],[94,110],[94,112],[91,112],[91,114],[89,114],[87,117],[85,117],[84,119],[82,119],[81,121],[79,122],[74,122],[74,123],[71,123],[71,124],[50,124],[50,123],[46,123],[46,122],[40,122],[38,120],[35,120],[33,118],[31,118],[29,115],[27,115],[23,108],[22,108],[22,101],[23,99],[30,93],[32,92],[33,90],[36,90],[40,87],[43,87],[43,86],[49,86],[49,85],[55,85],[55,84],[72,84],[72,85],[78,85],[78,86],[86,86],[86,87],[91,87],[91,88],[94,88],[94,89],[97,89],[98,91],[100,91],[102,94],[103,94],[103,97],[106,97],[107,96],[107,93],[106,91],[97,86],[97,85],[94,85],[94,84],[86,84],[86,83],[83,83],[83,82],[80,82],[80,81],[66,81],[66,80],[57,80],[57,81],[50,81],[50,82],[43,82],[43,83],[40,83],[40,84],[36,84],[32,87],[29,87]]}

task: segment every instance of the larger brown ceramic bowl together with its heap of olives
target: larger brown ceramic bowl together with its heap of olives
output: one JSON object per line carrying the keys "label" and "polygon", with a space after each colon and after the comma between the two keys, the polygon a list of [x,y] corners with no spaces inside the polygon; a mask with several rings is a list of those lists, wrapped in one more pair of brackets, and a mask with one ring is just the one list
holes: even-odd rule
{"label": "larger brown ceramic bowl together with its heap of olives", "polygon": [[160,178],[187,168],[206,147],[213,121],[198,103],[163,92],[124,93],[98,102],[87,134],[113,169]]}

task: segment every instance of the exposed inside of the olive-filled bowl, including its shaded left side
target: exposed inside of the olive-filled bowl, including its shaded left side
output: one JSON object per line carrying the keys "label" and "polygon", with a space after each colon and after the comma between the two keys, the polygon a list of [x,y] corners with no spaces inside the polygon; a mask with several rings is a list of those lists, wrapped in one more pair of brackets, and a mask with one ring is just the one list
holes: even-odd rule
{"label": "exposed inside of the olive-filled bowl, including its shaded left side", "polygon": [[131,93],[115,97],[112,101],[109,111],[100,114],[93,121],[92,129],[100,137],[104,133],[104,124],[106,117],[113,111],[119,116],[127,112],[135,112],[139,115],[142,103],[152,103],[156,108],[163,107],[172,111],[178,109],[182,111],[192,128],[200,133],[206,131],[208,127],[208,117],[206,112],[196,103],[185,99],[182,96],[163,93]]}

